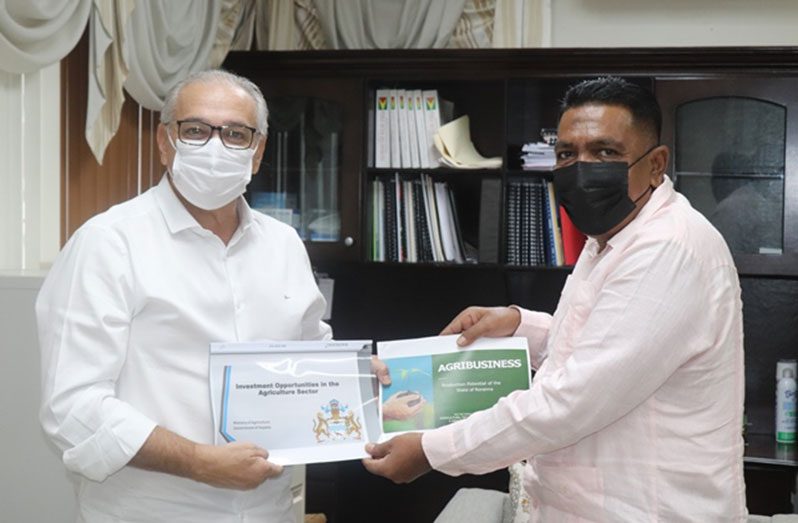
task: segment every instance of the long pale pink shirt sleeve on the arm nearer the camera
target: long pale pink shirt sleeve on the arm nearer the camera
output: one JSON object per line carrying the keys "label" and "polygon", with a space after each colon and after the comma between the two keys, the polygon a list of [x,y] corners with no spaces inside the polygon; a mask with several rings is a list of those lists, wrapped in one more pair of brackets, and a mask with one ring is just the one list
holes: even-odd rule
{"label": "long pale pink shirt sleeve on the arm nearer the camera", "polygon": [[[727,275],[724,275],[728,279]],[[431,465],[481,474],[570,446],[644,402],[713,343],[710,271],[676,242],[643,239],[600,289],[581,282],[544,376],[494,407],[424,434]],[[586,290],[587,289],[587,290]],[[580,310],[581,309],[581,310]],[[573,313],[573,314],[572,314]]]}

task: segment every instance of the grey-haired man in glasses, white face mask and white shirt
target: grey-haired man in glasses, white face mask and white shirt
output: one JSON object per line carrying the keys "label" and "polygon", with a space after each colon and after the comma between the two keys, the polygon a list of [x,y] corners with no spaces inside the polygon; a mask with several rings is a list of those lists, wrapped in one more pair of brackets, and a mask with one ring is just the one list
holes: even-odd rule
{"label": "grey-haired man in glasses, white face mask and white shirt", "polygon": [[241,196],[266,143],[260,90],[222,71],[168,96],[167,174],[86,222],[36,303],[41,421],[79,479],[79,520],[293,521],[290,474],[213,445],[213,341],[331,337],[296,232]]}

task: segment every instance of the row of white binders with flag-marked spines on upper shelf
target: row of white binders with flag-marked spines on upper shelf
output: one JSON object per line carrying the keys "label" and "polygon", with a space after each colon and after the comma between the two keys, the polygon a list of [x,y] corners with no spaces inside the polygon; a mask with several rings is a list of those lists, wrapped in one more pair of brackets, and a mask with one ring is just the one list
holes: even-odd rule
{"label": "row of white binders with flag-marked spines on upper shelf", "polygon": [[432,169],[440,153],[433,137],[441,126],[435,89],[377,89],[374,101],[374,166]]}

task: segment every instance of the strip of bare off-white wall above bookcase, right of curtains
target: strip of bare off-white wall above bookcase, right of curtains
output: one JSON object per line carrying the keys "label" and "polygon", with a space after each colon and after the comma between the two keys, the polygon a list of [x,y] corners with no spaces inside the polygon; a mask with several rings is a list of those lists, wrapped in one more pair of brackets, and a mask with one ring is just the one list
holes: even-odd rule
{"label": "strip of bare off-white wall above bookcase, right of curtains", "polygon": [[551,0],[553,47],[798,45],[796,0]]}

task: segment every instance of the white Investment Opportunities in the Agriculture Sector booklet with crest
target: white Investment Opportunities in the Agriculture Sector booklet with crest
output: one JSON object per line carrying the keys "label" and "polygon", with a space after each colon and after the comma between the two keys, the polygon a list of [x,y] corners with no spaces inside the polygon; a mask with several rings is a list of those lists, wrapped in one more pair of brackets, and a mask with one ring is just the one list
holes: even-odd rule
{"label": "white Investment Opportunities in the Agriculture Sector booklet with crest", "polygon": [[367,457],[379,438],[371,340],[213,343],[216,444],[250,441],[297,465]]}

